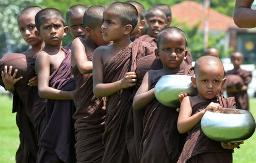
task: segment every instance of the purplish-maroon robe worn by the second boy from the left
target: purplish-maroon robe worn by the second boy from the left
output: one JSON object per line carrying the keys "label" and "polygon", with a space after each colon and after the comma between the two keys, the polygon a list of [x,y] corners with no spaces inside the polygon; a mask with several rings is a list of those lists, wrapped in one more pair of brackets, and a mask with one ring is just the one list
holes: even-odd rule
{"label": "purplish-maroon robe worn by the second boy from the left", "polygon": [[[70,72],[70,49],[62,50],[66,57],[57,70],[50,74],[49,87],[75,90],[74,76]],[[74,120],[72,100],[50,100],[46,104],[45,129],[39,140],[38,162],[75,162]]]}

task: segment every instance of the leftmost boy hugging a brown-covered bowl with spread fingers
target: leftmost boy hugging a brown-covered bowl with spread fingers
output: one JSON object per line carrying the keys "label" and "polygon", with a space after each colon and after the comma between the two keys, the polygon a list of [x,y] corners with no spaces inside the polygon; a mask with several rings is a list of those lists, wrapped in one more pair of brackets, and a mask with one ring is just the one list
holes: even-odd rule
{"label": "leftmost boy hugging a brown-covered bowl with spread fingers", "polygon": [[[8,54],[1,58],[2,78],[0,84],[13,93],[12,112],[16,114],[17,127],[20,132],[20,145],[16,152],[16,162],[36,162],[37,143],[36,119],[33,114],[33,101],[38,97],[35,74],[35,57],[44,43],[35,34],[35,15],[41,7],[29,6],[23,9],[17,20],[22,38],[31,46],[22,54]],[[7,65],[9,70],[7,70]],[[14,68],[15,71],[13,72]],[[13,74],[12,74],[13,73]],[[16,78],[18,77],[19,78]]]}

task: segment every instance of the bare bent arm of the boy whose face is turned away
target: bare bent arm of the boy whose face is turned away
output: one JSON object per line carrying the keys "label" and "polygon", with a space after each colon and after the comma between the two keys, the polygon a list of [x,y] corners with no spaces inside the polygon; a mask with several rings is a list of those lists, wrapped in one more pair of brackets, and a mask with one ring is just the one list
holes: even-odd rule
{"label": "bare bent arm of the boy whose face is turned away", "polygon": [[71,46],[72,53],[72,65],[77,65],[79,72],[81,74],[90,74],[92,73],[92,61],[88,61],[87,55],[85,52],[85,46],[81,42],[80,38],[75,38]]}

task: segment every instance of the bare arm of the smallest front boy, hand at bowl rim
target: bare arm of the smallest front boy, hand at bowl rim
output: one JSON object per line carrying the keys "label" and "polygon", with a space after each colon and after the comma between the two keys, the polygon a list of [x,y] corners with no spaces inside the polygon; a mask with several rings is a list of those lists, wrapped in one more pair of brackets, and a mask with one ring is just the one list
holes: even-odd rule
{"label": "bare arm of the smallest front boy, hand at bowl rim", "polygon": [[179,110],[179,117],[177,120],[177,129],[179,130],[179,133],[185,133],[192,130],[195,125],[201,121],[203,114],[205,114],[207,110],[218,111],[221,110],[221,106],[218,103],[211,102],[205,109],[191,116],[192,108],[190,105],[190,99],[189,97],[185,97],[181,102],[181,108]]}

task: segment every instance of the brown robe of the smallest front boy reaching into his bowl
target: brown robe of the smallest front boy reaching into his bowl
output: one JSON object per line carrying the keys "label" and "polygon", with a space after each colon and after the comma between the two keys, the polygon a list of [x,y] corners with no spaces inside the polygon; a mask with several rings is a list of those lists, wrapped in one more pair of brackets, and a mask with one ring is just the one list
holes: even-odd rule
{"label": "brown robe of the smallest front boy reaching into his bowl", "polygon": [[[197,103],[192,106],[192,115],[202,111],[211,102],[220,103],[223,108],[236,108],[234,97],[224,98],[222,95]],[[178,163],[200,163],[207,161],[228,163],[233,161],[232,149],[224,149],[221,143],[211,140],[203,134],[200,122],[195,125],[194,129],[188,132],[187,141],[179,157]]]}

